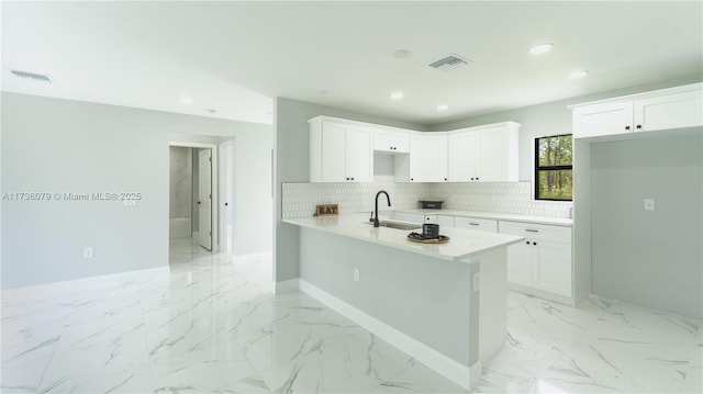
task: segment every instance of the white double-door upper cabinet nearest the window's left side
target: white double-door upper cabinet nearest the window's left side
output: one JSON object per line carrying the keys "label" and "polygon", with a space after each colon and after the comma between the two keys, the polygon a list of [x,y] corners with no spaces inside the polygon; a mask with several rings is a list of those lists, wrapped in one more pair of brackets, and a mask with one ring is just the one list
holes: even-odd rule
{"label": "white double-door upper cabinet nearest the window's left side", "polygon": [[520,124],[503,122],[450,132],[449,181],[517,181],[518,130]]}

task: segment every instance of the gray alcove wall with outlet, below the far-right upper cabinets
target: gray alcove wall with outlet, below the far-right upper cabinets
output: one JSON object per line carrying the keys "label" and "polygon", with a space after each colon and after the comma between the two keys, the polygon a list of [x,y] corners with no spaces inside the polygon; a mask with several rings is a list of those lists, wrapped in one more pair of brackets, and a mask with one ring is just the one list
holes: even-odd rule
{"label": "gray alcove wall with outlet, below the far-right upper cabinets", "polygon": [[591,144],[592,290],[700,318],[703,135],[659,136]]}

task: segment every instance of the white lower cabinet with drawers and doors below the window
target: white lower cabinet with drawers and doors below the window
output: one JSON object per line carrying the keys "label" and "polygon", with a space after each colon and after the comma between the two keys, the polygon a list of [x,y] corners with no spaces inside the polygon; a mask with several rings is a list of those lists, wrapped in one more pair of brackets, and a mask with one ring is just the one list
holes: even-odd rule
{"label": "white lower cabinet with drawers and doors below the window", "polygon": [[[500,221],[500,233],[525,237],[507,247],[507,282],[571,299],[571,227]],[[544,294],[544,293],[540,293]]]}

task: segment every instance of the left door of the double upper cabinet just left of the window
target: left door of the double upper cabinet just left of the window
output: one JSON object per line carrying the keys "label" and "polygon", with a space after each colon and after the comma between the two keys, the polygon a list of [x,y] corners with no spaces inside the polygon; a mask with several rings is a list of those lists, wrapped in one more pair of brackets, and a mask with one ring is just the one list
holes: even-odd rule
{"label": "left door of the double upper cabinet just left of the window", "polygon": [[450,182],[476,180],[476,132],[455,132],[448,136],[447,173]]}

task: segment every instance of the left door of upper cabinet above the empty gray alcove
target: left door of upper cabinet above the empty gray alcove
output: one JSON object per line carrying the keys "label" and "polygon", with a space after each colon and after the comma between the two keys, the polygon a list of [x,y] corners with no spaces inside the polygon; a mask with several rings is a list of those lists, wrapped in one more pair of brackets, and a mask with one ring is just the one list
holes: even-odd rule
{"label": "left door of upper cabinet above the empty gray alcove", "polygon": [[621,101],[573,110],[573,137],[622,134],[633,131],[633,102]]}

